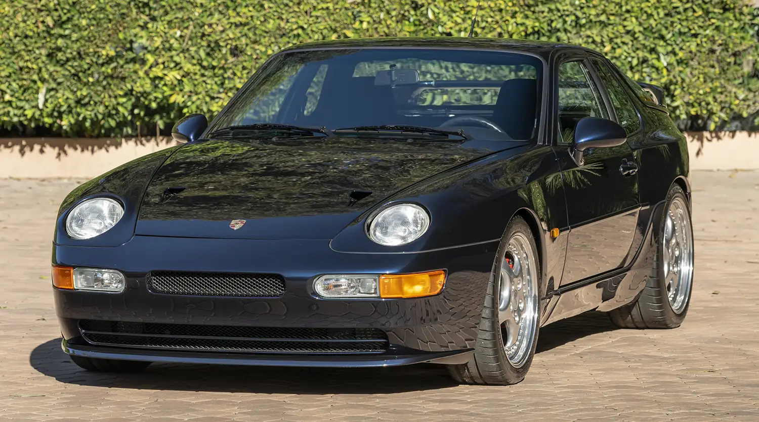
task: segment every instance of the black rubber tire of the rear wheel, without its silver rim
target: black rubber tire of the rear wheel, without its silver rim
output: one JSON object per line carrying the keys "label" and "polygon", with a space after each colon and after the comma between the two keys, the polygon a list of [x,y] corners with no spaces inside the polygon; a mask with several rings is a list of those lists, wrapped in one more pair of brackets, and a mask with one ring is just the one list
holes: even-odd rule
{"label": "black rubber tire of the rear wheel, without its silver rim", "polygon": [[[676,328],[680,327],[682,321],[685,320],[685,315],[688,314],[688,306],[690,305],[691,289],[693,283],[688,286],[687,303],[685,308],[677,314],[672,310],[672,306],[669,304],[667,298],[666,282],[663,268],[663,242],[661,236],[664,236],[664,225],[666,224],[667,211],[669,205],[675,198],[682,198],[685,204],[688,204],[688,197],[682,188],[677,185],[672,185],[669,188],[669,193],[666,197],[666,203],[662,212],[657,230],[654,232],[654,242],[656,244],[656,252],[653,254],[653,267],[651,267],[650,276],[646,281],[646,287],[641,292],[638,300],[631,304],[625,305],[622,308],[613,309],[609,311],[609,319],[612,323],[619,328]],[[686,207],[688,214],[688,224],[691,224],[690,210]],[[692,225],[691,225],[691,250],[692,245]]]}

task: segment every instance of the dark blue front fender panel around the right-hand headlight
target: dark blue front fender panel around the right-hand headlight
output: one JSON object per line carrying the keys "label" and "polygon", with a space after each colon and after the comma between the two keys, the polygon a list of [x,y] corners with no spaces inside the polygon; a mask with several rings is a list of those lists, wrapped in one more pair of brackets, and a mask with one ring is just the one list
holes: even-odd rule
{"label": "dark blue front fender panel around the right-hand headlight", "polygon": [[403,189],[380,207],[398,202],[414,202],[430,211],[430,229],[420,239],[401,246],[372,242],[366,226],[377,209],[373,208],[335,236],[332,249],[414,253],[498,242],[506,224],[522,208],[537,214],[543,230],[566,225],[556,157],[544,146],[525,145],[488,155]]}

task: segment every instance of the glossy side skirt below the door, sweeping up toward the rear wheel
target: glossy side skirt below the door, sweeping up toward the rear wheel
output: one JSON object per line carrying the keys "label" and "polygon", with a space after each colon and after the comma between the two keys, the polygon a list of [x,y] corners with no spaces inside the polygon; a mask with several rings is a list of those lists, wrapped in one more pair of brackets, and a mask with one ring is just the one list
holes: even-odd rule
{"label": "glossy side skirt below the door, sweeping up toward the rear wheel", "polygon": [[[656,239],[653,222],[660,220],[663,202],[653,207],[646,233],[631,263],[617,270],[589,277],[561,286],[546,293],[550,299],[550,314],[543,325],[582,314],[586,311],[611,311],[630,302],[635,302],[646,286],[656,253]],[[553,309],[552,309],[553,308]]]}

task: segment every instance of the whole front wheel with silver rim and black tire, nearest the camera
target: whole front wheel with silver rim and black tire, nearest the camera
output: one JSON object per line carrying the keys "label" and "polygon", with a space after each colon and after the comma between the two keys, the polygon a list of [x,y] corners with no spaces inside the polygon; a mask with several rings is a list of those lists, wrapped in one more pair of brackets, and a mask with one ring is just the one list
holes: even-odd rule
{"label": "whole front wheel with silver rim and black tire, nearest the camera", "polygon": [[544,290],[534,236],[515,217],[493,263],[474,355],[466,364],[449,365],[452,377],[483,385],[524,380],[535,354]]}

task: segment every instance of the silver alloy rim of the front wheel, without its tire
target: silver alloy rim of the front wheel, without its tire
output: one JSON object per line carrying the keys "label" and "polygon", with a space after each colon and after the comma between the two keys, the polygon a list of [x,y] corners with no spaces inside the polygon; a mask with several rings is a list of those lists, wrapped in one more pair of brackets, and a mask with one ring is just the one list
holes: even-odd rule
{"label": "silver alloy rim of the front wheel, without its tire", "polygon": [[530,355],[537,333],[537,264],[530,241],[523,233],[509,239],[501,258],[498,320],[506,358],[521,367]]}

